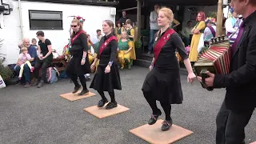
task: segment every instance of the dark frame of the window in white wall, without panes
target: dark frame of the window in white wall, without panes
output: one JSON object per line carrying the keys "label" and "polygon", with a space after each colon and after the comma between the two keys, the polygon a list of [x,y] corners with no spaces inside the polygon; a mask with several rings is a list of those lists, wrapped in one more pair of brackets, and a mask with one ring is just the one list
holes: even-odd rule
{"label": "dark frame of the window in white wall, without panes", "polygon": [[[60,14],[60,18],[31,18],[33,13],[39,14]],[[61,22],[62,26],[59,27],[31,27],[31,22],[33,21],[58,21]],[[29,22],[30,30],[63,30],[63,12],[62,11],[53,11],[53,10],[29,10]]]}

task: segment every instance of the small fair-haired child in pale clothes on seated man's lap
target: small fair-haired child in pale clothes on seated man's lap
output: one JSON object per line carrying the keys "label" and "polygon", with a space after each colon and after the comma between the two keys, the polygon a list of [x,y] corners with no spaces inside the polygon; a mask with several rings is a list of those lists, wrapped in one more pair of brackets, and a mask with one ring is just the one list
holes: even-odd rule
{"label": "small fair-haired child in pale clothes on seated man's lap", "polygon": [[24,70],[24,65],[27,64],[27,66],[30,67],[30,72],[32,73],[34,70],[34,66],[31,66],[30,63],[31,56],[27,53],[27,48],[22,47],[22,53],[18,55],[18,62],[17,65],[21,67],[21,70],[19,71],[18,78],[22,79],[22,74]]}

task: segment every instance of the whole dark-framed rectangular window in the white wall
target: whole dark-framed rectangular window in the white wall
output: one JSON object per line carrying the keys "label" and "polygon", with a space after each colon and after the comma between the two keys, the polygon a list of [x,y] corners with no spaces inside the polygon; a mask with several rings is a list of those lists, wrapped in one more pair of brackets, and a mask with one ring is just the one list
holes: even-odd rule
{"label": "whole dark-framed rectangular window in the white wall", "polygon": [[63,30],[62,11],[29,10],[30,30]]}

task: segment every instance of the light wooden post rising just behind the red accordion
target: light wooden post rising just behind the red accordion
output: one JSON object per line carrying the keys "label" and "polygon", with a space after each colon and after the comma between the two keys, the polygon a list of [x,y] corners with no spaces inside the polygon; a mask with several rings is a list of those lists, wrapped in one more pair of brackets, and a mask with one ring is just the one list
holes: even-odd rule
{"label": "light wooden post rising just behind the red accordion", "polygon": [[222,0],[218,0],[216,37],[218,37],[219,35],[222,35],[222,20],[223,20]]}

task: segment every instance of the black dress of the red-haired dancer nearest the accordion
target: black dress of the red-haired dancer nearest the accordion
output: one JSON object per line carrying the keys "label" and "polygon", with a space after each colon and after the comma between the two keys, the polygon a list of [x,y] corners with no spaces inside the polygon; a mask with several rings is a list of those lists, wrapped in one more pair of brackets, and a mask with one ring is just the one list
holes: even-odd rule
{"label": "black dress of the red-haired dancer nearest the accordion", "polygon": [[[165,32],[162,33],[162,35],[163,34],[165,34]],[[159,33],[158,40],[161,36]],[[154,46],[158,40],[154,41]],[[182,39],[177,33],[174,33],[170,36],[165,46],[162,47],[153,70],[146,75],[142,86],[143,91],[152,92],[154,99],[160,102],[181,104],[183,100],[179,64],[175,55],[176,49],[182,59],[188,58]]]}

